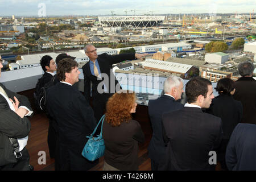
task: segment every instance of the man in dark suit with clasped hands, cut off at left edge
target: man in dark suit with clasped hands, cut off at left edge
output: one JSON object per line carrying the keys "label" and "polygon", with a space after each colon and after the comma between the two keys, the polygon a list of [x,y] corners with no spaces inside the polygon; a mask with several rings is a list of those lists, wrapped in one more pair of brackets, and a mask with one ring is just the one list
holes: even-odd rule
{"label": "man in dark suit with clasped hands, cut off at left edge", "polygon": [[[0,56],[0,77],[2,62]],[[26,149],[31,124],[26,116],[32,112],[27,97],[11,92],[0,83],[0,170],[31,170]],[[16,150],[11,141],[18,143]]]}

